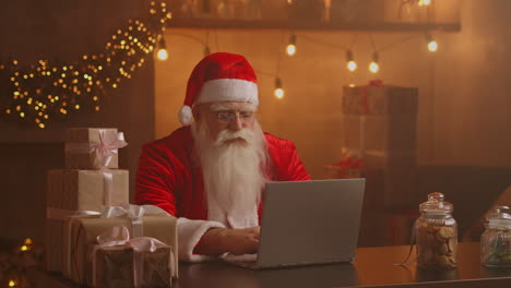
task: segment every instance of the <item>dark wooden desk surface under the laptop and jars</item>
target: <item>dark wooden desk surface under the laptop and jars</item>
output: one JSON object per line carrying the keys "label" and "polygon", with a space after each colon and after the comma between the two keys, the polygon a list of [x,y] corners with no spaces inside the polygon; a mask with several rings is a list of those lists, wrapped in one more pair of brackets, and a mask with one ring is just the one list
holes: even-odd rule
{"label": "dark wooden desk surface under the laptop and jars", "polygon": [[[281,288],[281,287],[435,287],[510,288],[511,269],[488,269],[479,262],[479,243],[460,243],[459,266],[449,272],[425,272],[402,262],[409,247],[360,248],[354,264],[316,265],[295,268],[249,271],[223,262],[181,263],[179,288]],[[29,273],[35,287],[80,287],[45,272]],[[38,278],[38,279],[35,279]],[[46,278],[45,281],[41,280]],[[47,286],[51,284],[51,286]],[[59,284],[59,285],[58,285]]]}

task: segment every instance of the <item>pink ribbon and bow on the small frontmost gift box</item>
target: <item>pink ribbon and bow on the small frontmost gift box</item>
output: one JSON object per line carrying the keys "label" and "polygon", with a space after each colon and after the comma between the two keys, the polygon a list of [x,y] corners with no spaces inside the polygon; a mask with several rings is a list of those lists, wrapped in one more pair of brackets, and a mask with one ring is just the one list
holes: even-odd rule
{"label": "pink ribbon and bow on the small frontmost gift box", "polygon": [[[99,249],[107,247],[127,247],[132,248],[135,253],[133,253],[133,281],[135,287],[143,285],[143,267],[142,266],[142,252],[154,252],[159,247],[167,247],[164,242],[151,238],[151,237],[136,237],[130,239],[130,231],[126,226],[115,226],[110,229],[104,231],[102,235],[96,237],[98,242],[94,247],[94,250],[91,254],[93,263],[93,285],[96,286],[96,252]],[[170,251],[169,255],[169,269],[174,271],[174,253]],[[168,279],[168,286],[170,286],[170,278]]]}

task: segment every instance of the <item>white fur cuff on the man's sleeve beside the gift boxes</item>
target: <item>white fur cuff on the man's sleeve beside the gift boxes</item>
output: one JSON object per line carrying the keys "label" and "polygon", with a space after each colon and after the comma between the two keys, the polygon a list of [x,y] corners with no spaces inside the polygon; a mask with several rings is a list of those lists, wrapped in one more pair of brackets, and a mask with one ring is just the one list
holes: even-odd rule
{"label": "white fur cuff on the man's sleeve beside the gift boxes", "polygon": [[180,261],[201,262],[216,259],[215,256],[193,254],[193,249],[202,236],[211,228],[225,228],[218,221],[190,220],[183,217],[177,220],[178,228],[178,255]]}

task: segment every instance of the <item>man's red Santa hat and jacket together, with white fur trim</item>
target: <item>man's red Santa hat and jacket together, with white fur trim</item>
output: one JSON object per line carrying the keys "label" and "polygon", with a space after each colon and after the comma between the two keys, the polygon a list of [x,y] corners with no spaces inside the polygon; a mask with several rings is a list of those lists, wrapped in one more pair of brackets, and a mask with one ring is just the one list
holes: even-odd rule
{"label": "man's red Santa hat and jacket together, with white fur trim", "polygon": [[[254,203],[251,211],[236,212],[236,215],[227,212],[226,215],[216,201],[207,201],[205,196],[203,175],[189,125],[193,105],[221,101],[259,105],[255,72],[240,55],[212,53],[195,65],[179,111],[183,128],[146,144],[140,158],[135,202],[156,205],[178,217],[178,254],[185,261],[207,259],[192,253],[207,229],[253,227],[259,225],[261,216],[261,203],[259,206]],[[310,179],[292,142],[270,134],[264,136],[270,156],[270,180]]]}

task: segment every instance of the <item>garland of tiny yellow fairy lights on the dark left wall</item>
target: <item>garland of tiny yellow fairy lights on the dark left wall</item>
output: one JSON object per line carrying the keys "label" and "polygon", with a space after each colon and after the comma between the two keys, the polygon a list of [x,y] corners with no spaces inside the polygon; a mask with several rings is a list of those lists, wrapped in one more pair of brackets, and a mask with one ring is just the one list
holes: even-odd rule
{"label": "garland of tiny yellow fairy lights on the dark left wall", "polygon": [[99,111],[108,92],[144,64],[170,19],[165,1],[152,1],[147,19],[129,20],[102,52],[70,63],[0,61],[0,117],[45,129],[52,120]]}

